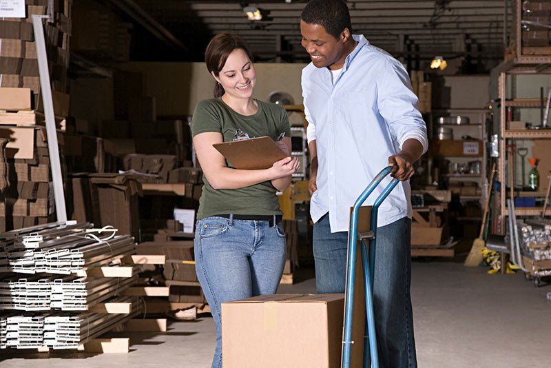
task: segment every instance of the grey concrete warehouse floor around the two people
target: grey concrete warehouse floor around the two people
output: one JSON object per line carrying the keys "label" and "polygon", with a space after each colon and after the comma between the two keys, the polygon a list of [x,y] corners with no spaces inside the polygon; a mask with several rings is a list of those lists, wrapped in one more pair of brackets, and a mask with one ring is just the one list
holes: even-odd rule
{"label": "grey concrete warehouse floor around the two people", "polygon": [[[314,280],[280,292],[313,292]],[[487,275],[458,263],[413,264],[413,311],[419,367],[550,367],[551,286],[521,274]],[[209,367],[212,318],[171,323],[165,334],[140,333],[129,354],[6,358],[0,367]]]}

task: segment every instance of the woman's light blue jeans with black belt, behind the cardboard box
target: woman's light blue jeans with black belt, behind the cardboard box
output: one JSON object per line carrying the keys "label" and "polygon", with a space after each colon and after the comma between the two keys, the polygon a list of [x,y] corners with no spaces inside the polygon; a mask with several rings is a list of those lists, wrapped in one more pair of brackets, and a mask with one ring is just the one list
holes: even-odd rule
{"label": "woman's light blue jeans with black belt, behind the cardboard box", "polygon": [[207,217],[197,221],[195,268],[216,327],[213,368],[222,367],[220,304],[275,294],[285,266],[281,223]]}

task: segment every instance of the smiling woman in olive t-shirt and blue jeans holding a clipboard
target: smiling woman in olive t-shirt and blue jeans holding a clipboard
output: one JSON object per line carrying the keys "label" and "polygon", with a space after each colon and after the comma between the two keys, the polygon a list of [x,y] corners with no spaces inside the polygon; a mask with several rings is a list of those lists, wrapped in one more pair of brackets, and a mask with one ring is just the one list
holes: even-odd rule
{"label": "smiling woman in olive t-shirt and blue jeans holding a clipboard", "polygon": [[205,52],[216,80],[214,99],[200,102],[191,134],[205,186],[195,236],[196,272],[216,325],[212,367],[222,367],[220,303],[274,294],[285,263],[285,238],[276,190],[291,183],[298,159],[288,156],[266,170],[236,170],[213,147],[238,134],[269,136],[291,152],[287,112],[253,99],[256,72],[251,51],[236,34],[218,34]]}

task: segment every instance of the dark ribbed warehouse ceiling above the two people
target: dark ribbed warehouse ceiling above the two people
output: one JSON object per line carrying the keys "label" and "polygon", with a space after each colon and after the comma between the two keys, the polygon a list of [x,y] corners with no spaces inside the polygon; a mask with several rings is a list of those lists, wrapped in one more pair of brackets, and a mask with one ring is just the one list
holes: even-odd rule
{"label": "dark ribbed warehouse ceiling above the two people", "polygon": [[[396,57],[432,59],[469,56],[500,59],[503,55],[504,8],[507,0],[352,0],[347,1],[354,33]],[[186,46],[187,57],[202,60],[216,33],[236,32],[264,61],[308,61],[300,45],[300,13],[307,1],[134,0]],[[510,1],[508,1],[510,2]],[[243,8],[255,6],[261,21],[249,21]],[[508,19],[512,12],[508,7]],[[278,59],[276,59],[278,58]]]}

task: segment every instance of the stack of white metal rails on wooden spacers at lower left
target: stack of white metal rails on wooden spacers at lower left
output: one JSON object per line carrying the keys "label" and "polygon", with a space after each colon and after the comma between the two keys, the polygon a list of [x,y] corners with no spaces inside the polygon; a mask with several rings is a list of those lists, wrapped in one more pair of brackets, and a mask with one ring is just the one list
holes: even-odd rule
{"label": "stack of white metal rails on wooden spacers at lower left", "polygon": [[[116,267],[135,250],[132,236],[91,223],[1,233],[0,348],[74,349],[138,315],[143,303],[137,297],[118,296],[136,282],[137,270],[125,277],[89,275]],[[99,303],[126,303],[129,312],[98,312]]]}

